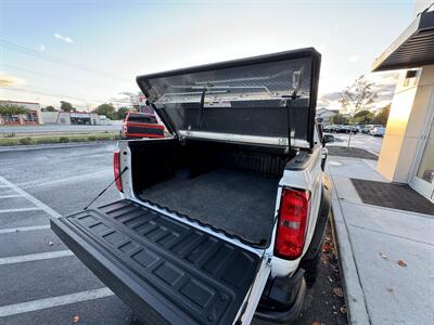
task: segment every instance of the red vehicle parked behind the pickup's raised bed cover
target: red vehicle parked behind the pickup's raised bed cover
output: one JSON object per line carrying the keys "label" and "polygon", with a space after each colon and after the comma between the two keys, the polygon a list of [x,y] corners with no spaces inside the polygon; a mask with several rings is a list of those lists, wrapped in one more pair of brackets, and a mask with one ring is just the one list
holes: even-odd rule
{"label": "red vehicle parked behind the pickup's raised bed cover", "polygon": [[152,114],[130,112],[124,119],[123,139],[164,138],[164,126]]}

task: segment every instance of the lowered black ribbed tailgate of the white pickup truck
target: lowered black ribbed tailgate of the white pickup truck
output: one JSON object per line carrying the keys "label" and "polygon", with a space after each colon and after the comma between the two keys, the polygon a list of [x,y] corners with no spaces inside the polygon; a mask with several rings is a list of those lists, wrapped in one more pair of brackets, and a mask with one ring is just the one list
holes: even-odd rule
{"label": "lowered black ribbed tailgate of the white pickup truck", "polygon": [[124,199],[51,220],[116,295],[152,324],[230,324],[260,258]]}

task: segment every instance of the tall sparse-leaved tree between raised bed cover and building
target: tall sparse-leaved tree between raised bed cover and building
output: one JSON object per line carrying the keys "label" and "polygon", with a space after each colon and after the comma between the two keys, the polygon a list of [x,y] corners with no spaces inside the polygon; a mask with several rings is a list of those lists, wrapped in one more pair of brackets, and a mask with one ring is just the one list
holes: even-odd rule
{"label": "tall sparse-leaved tree between raised bed cover and building", "polygon": [[352,86],[345,88],[340,100],[343,110],[358,113],[369,109],[378,96],[376,92],[372,90],[373,84],[361,75]]}

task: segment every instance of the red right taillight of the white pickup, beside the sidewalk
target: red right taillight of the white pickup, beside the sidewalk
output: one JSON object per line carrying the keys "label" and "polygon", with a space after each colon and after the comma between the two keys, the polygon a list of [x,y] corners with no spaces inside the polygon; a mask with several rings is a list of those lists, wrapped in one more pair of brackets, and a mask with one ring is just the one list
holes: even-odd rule
{"label": "red right taillight of the white pickup, beside the sidewalk", "polygon": [[306,238],[309,192],[284,188],[276,236],[275,255],[294,260],[302,256]]}

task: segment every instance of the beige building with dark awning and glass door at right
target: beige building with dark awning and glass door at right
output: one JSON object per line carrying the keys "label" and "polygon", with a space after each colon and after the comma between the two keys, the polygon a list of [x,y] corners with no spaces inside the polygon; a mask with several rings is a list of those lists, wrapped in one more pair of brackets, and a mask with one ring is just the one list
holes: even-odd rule
{"label": "beige building with dark awning and glass door at right", "polygon": [[396,69],[378,170],[434,202],[434,3],[418,2],[414,21],[372,66],[372,72]]}

